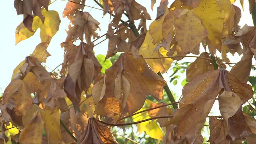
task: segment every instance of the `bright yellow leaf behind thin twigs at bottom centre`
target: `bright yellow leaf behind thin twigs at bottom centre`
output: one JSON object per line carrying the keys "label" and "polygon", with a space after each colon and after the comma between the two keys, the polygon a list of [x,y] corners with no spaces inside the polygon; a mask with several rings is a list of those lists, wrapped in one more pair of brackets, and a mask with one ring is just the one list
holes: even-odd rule
{"label": "bright yellow leaf behind thin twigs at bottom centre", "polygon": [[[140,110],[138,110],[137,112],[146,110],[147,108],[150,107],[151,103],[152,103],[152,101],[146,99],[144,107],[141,108]],[[143,114],[141,114],[141,113],[136,114],[136,115],[132,116],[132,118],[133,118],[134,122],[138,122],[140,120],[149,119],[150,116],[149,116],[149,113],[147,112],[147,113],[143,113]],[[139,123],[139,124],[137,124],[137,126],[138,126],[138,130],[137,130],[138,132],[141,133],[141,132],[145,131],[146,134],[149,135],[149,137],[151,137],[151,138],[162,140],[162,138],[164,137],[162,129],[156,123],[155,120],[149,120],[149,121],[146,121],[143,123]]]}

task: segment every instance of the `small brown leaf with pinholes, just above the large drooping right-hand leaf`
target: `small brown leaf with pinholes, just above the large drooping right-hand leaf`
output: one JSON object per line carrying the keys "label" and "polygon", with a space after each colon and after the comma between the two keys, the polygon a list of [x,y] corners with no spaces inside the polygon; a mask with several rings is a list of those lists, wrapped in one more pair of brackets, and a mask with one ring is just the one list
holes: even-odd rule
{"label": "small brown leaf with pinholes, just above the large drooping right-hand leaf", "polygon": [[[200,56],[210,58],[210,55],[207,52],[201,53]],[[214,70],[214,67],[210,60],[197,58],[186,70],[187,81],[190,82],[196,76],[196,74],[202,74],[211,70]]]}

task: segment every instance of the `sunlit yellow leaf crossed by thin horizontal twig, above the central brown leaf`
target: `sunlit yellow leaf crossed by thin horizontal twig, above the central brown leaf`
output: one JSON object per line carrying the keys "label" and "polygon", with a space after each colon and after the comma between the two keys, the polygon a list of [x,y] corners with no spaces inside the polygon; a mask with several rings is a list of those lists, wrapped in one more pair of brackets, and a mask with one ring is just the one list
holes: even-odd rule
{"label": "sunlit yellow leaf crossed by thin horizontal twig, above the central brown leaf", "polygon": [[[167,56],[168,51],[165,50],[163,47],[155,51],[155,48],[158,44],[153,45],[152,41],[152,36],[148,32],[146,34],[143,44],[140,47],[139,54],[142,55],[144,58],[158,58]],[[149,64],[149,66],[153,69],[153,71],[155,71],[155,73],[158,73],[159,71],[161,71],[161,73],[166,72],[171,67],[171,63],[173,62],[173,59],[171,58],[145,60],[147,64]]]}

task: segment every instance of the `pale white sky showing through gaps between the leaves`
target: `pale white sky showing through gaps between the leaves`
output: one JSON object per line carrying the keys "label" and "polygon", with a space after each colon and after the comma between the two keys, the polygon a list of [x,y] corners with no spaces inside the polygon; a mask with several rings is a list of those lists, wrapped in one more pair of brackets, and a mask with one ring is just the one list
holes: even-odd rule
{"label": "pale white sky showing through gaps between the leaves", "polygon": [[[52,0],[53,1],[53,0]],[[153,11],[150,9],[151,0],[136,0],[138,3],[143,5],[147,8],[147,12],[150,14],[151,19],[156,18],[156,7],[159,6],[160,0],[156,1],[156,4],[153,8]],[[145,2],[146,1],[146,2]],[[169,0],[169,5],[173,2],[173,0]],[[63,0],[57,0],[53,4],[49,6],[49,10],[56,10],[60,14],[61,24],[59,31],[55,34],[55,36],[52,38],[51,43],[48,47],[48,52],[51,54],[47,58],[46,65],[50,67],[51,69],[54,69],[57,65],[61,64],[63,62],[63,49],[60,46],[60,43],[65,42],[65,38],[67,36],[67,33],[65,30],[67,30],[67,26],[69,23],[69,20],[67,18],[62,18],[62,12],[65,8],[65,4],[67,1]],[[95,5],[95,2],[93,0],[86,0],[86,5],[88,6],[95,6],[97,8],[101,8],[97,5]],[[235,5],[240,7],[241,5],[239,3],[239,0],[235,2]],[[244,1],[244,11],[242,10],[242,18],[240,21],[241,27],[243,27],[244,24],[253,26],[252,17],[249,15],[249,6],[248,1]],[[90,7],[85,7],[84,11],[90,12],[90,14],[97,19],[98,22],[100,22],[100,28],[101,31],[97,31],[99,36],[102,36],[107,32],[107,27],[110,22],[110,16],[109,14],[106,14],[103,16],[103,11],[92,9]],[[4,1],[4,6],[0,9],[1,13],[1,23],[0,23],[0,66],[1,66],[1,74],[0,74],[0,92],[3,92],[6,86],[10,83],[12,72],[14,68],[25,59],[26,56],[29,56],[33,50],[36,48],[36,46],[40,43],[40,30],[38,29],[34,36],[30,37],[29,39],[26,39],[22,42],[19,42],[17,45],[15,45],[15,29],[16,27],[22,22],[23,15],[17,15],[16,10],[13,6],[13,0],[6,0]],[[124,21],[127,19],[122,18]],[[149,27],[152,20],[147,20],[147,27]],[[138,25],[138,21],[135,22],[135,25]],[[104,39],[104,37],[103,37]],[[97,40],[95,42],[98,43],[101,40]],[[103,54],[106,55],[107,53],[107,45],[108,40],[104,41],[100,45],[97,45],[94,47],[95,54]],[[235,55],[232,57],[232,62],[238,62],[240,60],[240,56]],[[194,61],[195,58],[184,58],[182,61]],[[254,61],[255,63],[255,61]],[[59,67],[61,68],[61,67]],[[49,70],[49,69],[48,69]],[[50,70],[49,70],[50,71]],[[170,71],[170,70],[169,70]],[[173,71],[171,70],[168,73],[164,74],[165,80],[168,82],[170,80],[169,76]],[[180,80],[178,80],[178,84],[175,86],[168,83],[170,89],[172,89],[177,95],[181,95],[182,93],[182,86],[180,85],[180,82],[185,79],[185,73],[181,75]]]}

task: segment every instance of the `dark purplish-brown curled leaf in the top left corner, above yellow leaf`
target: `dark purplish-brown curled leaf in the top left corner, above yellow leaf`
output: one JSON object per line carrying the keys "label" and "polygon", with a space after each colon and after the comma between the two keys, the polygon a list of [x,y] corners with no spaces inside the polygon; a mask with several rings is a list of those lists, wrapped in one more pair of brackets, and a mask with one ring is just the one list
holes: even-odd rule
{"label": "dark purplish-brown curled leaf in the top left corner, above yellow leaf", "polygon": [[15,0],[14,7],[17,14],[23,14],[23,23],[28,30],[32,30],[33,17],[39,16],[42,22],[45,21],[45,17],[42,15],[41,7],[45,7],[48,10],[49,0]]}

